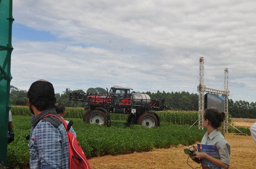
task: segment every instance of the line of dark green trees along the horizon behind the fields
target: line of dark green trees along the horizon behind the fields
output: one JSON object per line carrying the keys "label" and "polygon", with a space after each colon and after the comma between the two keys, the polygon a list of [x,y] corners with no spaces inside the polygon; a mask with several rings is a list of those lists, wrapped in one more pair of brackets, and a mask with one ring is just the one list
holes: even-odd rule
{"label": "line of dark green trees along the horizon behind the fields", "polygon": [[[96,87],[89,88],[86,92],[83,90],[69,90],[66,88],[63,93],[55,93],[56,102],[64,104],[66,107],[85,107],[85,102],[70,101],[69,93],[106,93],[107,90]],[[198,110],[198,94],[189,92],[168,92],[165,91],[157,93],[151,93],[150,91],[143,92],[148,94],[151,99],[164,99],[165,105],[171,110],[186,110],[197,111]],[[20,90],[17,87],[10,86],[10,104],[11,105],[28,105],[27,91]],[[248,101],[233,101],[228,99],[228,112],[231,117],[234,118],[256,118],[256,102],[249,103]]]}

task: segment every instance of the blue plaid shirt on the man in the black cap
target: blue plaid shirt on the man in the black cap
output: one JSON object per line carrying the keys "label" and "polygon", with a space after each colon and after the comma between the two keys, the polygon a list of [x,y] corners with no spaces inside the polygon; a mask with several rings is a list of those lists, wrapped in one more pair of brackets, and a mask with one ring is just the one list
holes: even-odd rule
{"label": "blue plaid shirt on the man in the black cap", "polygon": [[47,114],[56,115],[55,109],[41,112],[30,122],[30,169],[68,169],[67,131],[61,121],[53,116],[41,120]]}

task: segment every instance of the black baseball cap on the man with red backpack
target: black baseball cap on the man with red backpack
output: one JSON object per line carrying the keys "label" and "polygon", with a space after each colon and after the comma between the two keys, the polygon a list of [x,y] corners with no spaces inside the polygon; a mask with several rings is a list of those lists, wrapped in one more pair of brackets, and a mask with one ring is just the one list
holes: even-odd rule
{"label": "black baseball cap on the man with red backpack", "polygon": [[55,99],[52,84],[44,79],[39,79],[32,83],[27,96],[35,101],[53,101]]}

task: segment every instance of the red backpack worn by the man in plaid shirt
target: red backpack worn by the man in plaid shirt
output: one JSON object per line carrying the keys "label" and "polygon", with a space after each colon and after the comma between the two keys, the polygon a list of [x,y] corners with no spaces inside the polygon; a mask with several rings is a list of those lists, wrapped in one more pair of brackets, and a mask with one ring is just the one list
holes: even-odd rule
{"label": "red backpack worn by the man in plaid shirt", "polygon": [[69,149],[69,169],[91,169],[90,164],[88,163],[82,147],[79,145],[79,142],[76,139],[76,136],[71,133],[70,127],[73,124],[73,121],[67,122],[54,114],[48,114],[47,116],[54,116],[58,118],[67,130],[67,139],[68,139],[68,149]]}

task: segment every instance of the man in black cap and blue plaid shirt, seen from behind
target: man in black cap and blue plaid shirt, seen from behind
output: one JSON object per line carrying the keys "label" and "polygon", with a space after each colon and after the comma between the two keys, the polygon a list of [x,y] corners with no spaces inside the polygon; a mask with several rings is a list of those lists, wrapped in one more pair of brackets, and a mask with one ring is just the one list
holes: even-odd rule
{"label": "man in black cap and blue plaid shirt, seen from behind", "polygon": [[28,103],[32,114],[29,141],[30,169],[68,169],[69,152],[67,132],[54,116],[55,93],[50,82],[40,79],[28,90]]}

